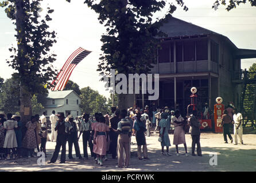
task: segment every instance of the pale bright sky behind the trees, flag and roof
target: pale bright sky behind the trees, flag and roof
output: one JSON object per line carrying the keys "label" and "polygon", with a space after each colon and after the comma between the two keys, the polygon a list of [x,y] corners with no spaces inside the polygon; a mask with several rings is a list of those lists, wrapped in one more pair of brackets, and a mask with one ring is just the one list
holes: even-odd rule
{"label": "pale bright sky behind the trees, flag and roof", "polygon": [[[96,71],[100,54],[102,54],[100,38],[106,33],[106,28],[99,23],[98,14],[83,2],[83,0],[73,0],[71,3],[65,0],[44,0],[41,3],[43,10],[46,10],[46,5],[55,10],[50,15],[53,20],[49,23],[51,29],[57,32],[57,43],[51,49],[52,53],[57,54],[57,60],[53,66],[61,69],[69,55],[78,47],[92,51],[76,66],[69,79],[76,82],[80,89],[90,86],[100,94],[109,97],[110,94],[104,89],[104,83],[99,81],[99,72]],[[169,0],[169,2],[175,1]],[[211,8],[215,0],[185,0],[184,2],[189,10],[184,11],[177,5],[173,17],[225,35],[238,48],[256,50],[256,7],[251,7],[247,3],[231,11],[225,10],[224,6],[220,6],[215,11]],[[157,13],[156,17],[163,15],[164,10]],[[6,63],[6,59],[10,57],[8,49],[12,44],[17,45],[17,43],[14,37],[14,25],[1,7],[0,25],[0,77],[7,79],[14,72]],[[256,58],[242,59],[241,67],[249,69],[253,63],[256,63]]]}

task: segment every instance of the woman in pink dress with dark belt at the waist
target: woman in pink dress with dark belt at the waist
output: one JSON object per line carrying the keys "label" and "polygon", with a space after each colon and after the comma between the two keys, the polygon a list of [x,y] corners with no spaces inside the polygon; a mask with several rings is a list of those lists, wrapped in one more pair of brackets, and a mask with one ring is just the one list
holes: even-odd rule
{"label": "woman in pink dress with dark belt at the waist", "polygon": [[99,123],[95,128],[94,144],[96,145],[95,153],[97,154],[98,164],[103,166],[103,157],[107,154],[107,141],[109,126],[105,124],[106,120],[103,116],[99,117]]}

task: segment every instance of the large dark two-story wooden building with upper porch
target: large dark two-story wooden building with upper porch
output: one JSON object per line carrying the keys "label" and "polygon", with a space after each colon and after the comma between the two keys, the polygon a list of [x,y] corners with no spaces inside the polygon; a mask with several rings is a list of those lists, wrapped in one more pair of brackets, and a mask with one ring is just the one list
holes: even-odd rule
{"label": "large dark two-story wooden building with upper porch", "polygon": [[[161,39],[157,64],[152,73],[160,74],[158,106],[179,108],[185,114],[190,104],[191,87],[197,88],[197,109],[205,102],[213,109],[216,97],[223,104],[240,106],[242,87],[232,82],[235,71],[241,71],[242,58],[255,58],[256,50],[238,49],[222,34],[172,17],[161,30],[168,37]],[[138,95],[139,106],[150,105],[148,96]],[[143,104],[142,104],[143,101]]]}

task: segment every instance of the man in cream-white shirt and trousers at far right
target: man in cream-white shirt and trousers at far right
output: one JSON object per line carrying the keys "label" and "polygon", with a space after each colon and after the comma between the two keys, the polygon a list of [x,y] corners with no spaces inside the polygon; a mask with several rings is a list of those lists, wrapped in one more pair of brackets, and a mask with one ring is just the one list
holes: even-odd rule
{"label": "man in cream-white shirt and trousers at far right", "polygon": [[234,121],[234,136],[235,136],[235,142],[234,145],[237,145],[237,134],[239,136],[241,144],[243,144],[243,117],[241,113],[238,113],[237,109],[234,109],[234,115],[233,115],[233,121]]}

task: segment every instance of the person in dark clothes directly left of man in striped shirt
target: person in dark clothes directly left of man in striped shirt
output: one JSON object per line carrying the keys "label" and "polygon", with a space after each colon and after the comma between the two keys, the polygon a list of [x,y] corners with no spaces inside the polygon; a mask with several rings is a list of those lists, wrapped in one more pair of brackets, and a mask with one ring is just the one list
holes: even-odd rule
{"label": "person in dark clothes directly left of man in striped shirt", "polygon": [[[118,128],[118,122],[120,116],[120,110],[115,111],[115,116],[113,118],[110,118],[110,153],[112,154],[112,158],[115,159],[117,157],[117,139],[118,139],[118,133],[114,130],[117,130]],[[113,130],[114,129],[114,130]]]}

